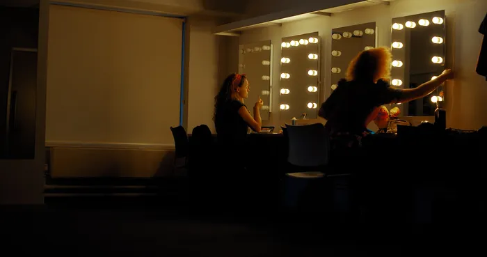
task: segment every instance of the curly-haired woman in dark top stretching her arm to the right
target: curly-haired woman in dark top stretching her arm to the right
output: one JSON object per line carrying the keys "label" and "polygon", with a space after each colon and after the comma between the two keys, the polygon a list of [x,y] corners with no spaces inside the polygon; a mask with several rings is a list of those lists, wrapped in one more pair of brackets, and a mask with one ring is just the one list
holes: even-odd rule
{"label": "curly-haired woman in dark top stretching her arm to the right", "polygon": [[392,88],[388,84],[391,61],[392,55],[385,47],[360,52],[351,61],[346,79],[341,79],[337,89],[321,104],[319,116],[327,120],[325,127],[333,148],[360,146],[360,140],[369,132],[367,125],[383,104],[423,98],[453,78],[452,70],[445,70],[417,88]]}

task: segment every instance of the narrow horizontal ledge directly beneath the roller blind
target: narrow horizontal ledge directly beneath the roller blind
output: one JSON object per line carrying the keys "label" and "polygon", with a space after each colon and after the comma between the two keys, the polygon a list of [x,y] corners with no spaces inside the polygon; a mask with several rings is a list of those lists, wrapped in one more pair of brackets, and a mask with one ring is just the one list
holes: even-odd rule
{"label": "narrow horizontal ledge directly beneath the roller blind", "polygon": [[175,150],[175,146],[173,144],[163,144],[163,143],[100,143],[100,142],[46,141],[46,147],[127,149],[127,150]]}

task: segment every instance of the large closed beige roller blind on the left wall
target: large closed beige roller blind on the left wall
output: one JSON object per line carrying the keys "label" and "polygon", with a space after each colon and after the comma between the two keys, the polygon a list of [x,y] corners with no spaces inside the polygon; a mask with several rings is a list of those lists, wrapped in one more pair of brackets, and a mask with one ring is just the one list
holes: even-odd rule
{"label": "large closed beige roller blind on the left wall", "polygon": [[46,142],[173,144],[182,20],[51,5]]}

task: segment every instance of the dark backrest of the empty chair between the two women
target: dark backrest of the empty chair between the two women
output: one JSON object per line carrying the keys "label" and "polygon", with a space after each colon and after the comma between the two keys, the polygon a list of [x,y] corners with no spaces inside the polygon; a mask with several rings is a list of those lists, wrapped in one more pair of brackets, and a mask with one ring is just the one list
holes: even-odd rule
{"label": "dark backrest of the empty chair between the two women", "polygon": [[289,142],[287,161],[290,164],[303,167],[328,164],[330,139],[323,124],[287,125],[286,132]]}

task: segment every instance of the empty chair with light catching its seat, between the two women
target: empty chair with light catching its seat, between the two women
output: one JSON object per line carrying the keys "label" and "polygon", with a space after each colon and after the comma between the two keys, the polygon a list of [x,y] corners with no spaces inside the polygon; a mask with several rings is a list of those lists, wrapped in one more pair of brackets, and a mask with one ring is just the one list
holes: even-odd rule
{"label": "empty chair with light catching its seat, between the two women", "polygon": [[[321,123],[303,126],[286,125],[282,131],[288,139],[291,172],[284,178],[284,205],[287,208],[319,206],[314,196],[324,189],[326,165],[329,159],[330,141]],[[308,202],[308,203],[306,203]]]}

